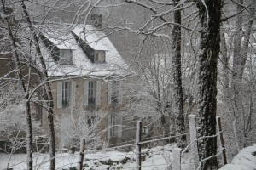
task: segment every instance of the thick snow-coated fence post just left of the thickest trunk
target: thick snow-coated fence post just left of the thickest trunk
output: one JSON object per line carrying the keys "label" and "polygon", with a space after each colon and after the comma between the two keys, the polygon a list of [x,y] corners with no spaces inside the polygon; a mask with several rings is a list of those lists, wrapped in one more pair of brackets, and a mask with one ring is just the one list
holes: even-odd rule
{"label": "thick snow-coated fence post just left of the thickest trunk", "polygon": [[198,155],[195,115],[189,115],[189,133],[190,133],[192,157],[194,160],[195,169],[197,169],[199,166],[199,155]]}

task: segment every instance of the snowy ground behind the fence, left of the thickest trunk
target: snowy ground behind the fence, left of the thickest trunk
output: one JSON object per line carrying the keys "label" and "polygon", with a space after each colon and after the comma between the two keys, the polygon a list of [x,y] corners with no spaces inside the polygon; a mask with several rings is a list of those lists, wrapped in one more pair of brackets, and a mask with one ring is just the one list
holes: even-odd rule
{"label": "snowy ground behind the fence, left of the thickest trunk", "polygon": [[[164,147],[157,146],[151,149],[144,149],[142,152],[145,161],[142,163],[143,170],[163,170],[172,161],[172,150],[175,145],[166,145]],[[26,155],[15,154],[11,156],[0,154],[0,169],[8,167],[18,169],[26,169]],[[84,163],[86,170],[105,170],[105,169],[135,169],[135,154],[131,152],[119,151],[98,151],[94,154],[86,154]],[[57,169],[67,169],[78,165],[79,153],[73,156],[69,153],[59,153],[56,158]],[[112,165],[106,165],[112,164]],[[34,154],[34,169],[49,169],[49,156],[45,154]],[[182,169],[193,169],[189,153],[182,156]]]}

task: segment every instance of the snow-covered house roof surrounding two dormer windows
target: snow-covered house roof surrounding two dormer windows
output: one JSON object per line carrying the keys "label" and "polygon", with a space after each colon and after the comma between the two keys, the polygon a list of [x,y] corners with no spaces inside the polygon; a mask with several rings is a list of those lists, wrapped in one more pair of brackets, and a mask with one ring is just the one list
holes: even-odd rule
{"label": "snow-covered house roof surrounding two dormer windows", "polygon": [[[72,65],[61,65],[56,62],[49,53],[49,49],[44,46],[44,57],[47,61],[49,76],[61,77],[61,76],[96,76],[105,77],[113,75],[124,75],[125,64],[124,59],[120,56],[116,48],[114,48],[112,42],[101,31],[97,31],[94,26],[76,26],[72,30],[73,34],[82,39],[90,48],[94,50],[105,51],[105,63],[98,64],[92,63],[83,49],[77,43],[72,33],[59,37],[51,37],[49,33],[44,35],[50,42],[55,44],[60,49],[73,49],[72,50]],[[44,34],[44,33],[43,33]]]}

